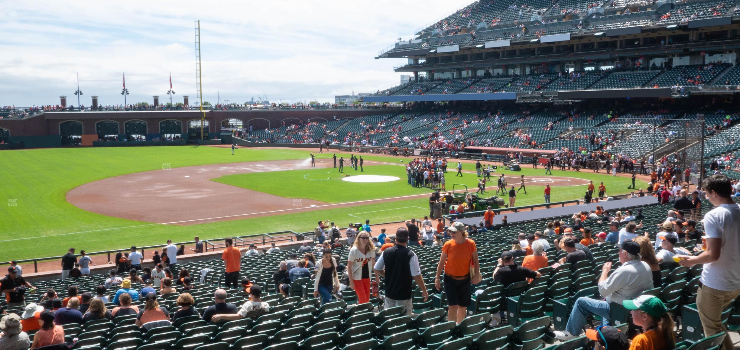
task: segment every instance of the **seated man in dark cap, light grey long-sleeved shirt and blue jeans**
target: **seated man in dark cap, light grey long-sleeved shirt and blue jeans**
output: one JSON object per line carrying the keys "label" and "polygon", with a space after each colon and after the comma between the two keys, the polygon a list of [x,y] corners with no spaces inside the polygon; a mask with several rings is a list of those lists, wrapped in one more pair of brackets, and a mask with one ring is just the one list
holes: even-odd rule
{"label": "seated man in dark cap, light grey long-sleeved shirt and blue jeans", "polygon": [[640,261],[640,245],[632,240],[626,240],[619,247],[619,266],[609,275],[611,262],[602,267],[599,277],[599,294],[605,300],[579,297],[573,305],[571,316],[565,325],[565,331],[556,331],[558,340],[565,341],[578,337],[589,314],[602,317],[602,324],[608,324],[610,303],[622,303],[638,297],[647,289],[653,288],[653,279],[650,275],[650,266]]}

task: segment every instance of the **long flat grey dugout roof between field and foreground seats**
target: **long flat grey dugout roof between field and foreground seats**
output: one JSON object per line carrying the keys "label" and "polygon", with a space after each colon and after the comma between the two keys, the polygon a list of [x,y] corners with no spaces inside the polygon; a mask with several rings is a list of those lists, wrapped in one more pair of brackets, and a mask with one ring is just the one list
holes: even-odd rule
{"label": "long flat grey dugout roof between field and foreground seats", "polygon": [[[615,199],[614,201],[602,201],[598,203],[591,203],[591,204],[585,204],[585,205],[579,205],[579,206],[558,206],[557,208],[550,208],[550,209],[539,209],[539,210],[527,210],[522,212],[512,212],[506,214],[506,219],[508,221],[508,224],[514,224],[522,221],[532,221],[532,220],[540,220],[544,218],[553,218],[557,216],[563,216],[563,215],[573,215],[574,212],[578,211],[591,211],[596,210],[596,206],[602,206],[605,210],[610,209],[624,209],[634,206],[647,206],[650,204],[656,203],[656,198],[653,196],[647,196],[647,197],[639,197],[639,198],[627,198],[627,199]],[[504,215],[496,215],[494,218],[494,225],[500,225],[501,224],[501,218],[503,218]],[[461,223],[464,223],[468,226],[477,225],[480,223],[480,221],[483,220],[482,216],[477,216],[474,218],[464,218],[460,219]]]}

